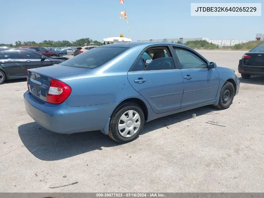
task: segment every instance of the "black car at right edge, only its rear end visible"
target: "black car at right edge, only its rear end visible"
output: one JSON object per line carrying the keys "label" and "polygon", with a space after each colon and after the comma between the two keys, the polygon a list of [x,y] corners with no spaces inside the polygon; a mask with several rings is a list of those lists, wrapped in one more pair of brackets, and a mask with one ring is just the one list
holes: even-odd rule
{"label": "black car at right edge, only its rear end visible", "polygon": [[238,72],[243,79],[248,79],[251,75],[264,76],[264,45],[257,46],[242,56]]}

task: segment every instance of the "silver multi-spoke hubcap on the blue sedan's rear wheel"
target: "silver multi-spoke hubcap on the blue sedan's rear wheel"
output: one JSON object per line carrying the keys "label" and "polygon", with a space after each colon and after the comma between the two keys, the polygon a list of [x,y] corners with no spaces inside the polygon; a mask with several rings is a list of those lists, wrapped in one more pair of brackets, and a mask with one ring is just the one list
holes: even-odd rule
{"label": "silver multi-spoke hubcap on the blue sedan's rear wheel", "polygon": [[128,110],[122,114],[118,122],[118,131],[124,138],[135,135],[140,127],[140,115],[135,110]]}

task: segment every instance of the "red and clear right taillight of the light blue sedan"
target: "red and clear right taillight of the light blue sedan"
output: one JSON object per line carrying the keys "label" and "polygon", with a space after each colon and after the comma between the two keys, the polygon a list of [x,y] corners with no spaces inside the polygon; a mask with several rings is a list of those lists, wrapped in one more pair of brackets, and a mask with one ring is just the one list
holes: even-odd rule
{"label": "red and clear right taillight of the light blue sedan", "polygon": [[66,83],[51,79],[46,102],[51,104],[61,104],[69,97],[71,92],[71,87]]}

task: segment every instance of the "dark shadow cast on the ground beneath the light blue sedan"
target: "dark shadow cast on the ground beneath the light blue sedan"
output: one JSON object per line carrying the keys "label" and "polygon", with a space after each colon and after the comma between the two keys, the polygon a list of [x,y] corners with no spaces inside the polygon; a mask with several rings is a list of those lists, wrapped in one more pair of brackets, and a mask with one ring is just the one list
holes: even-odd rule
{"label": "dark shadow cast on the ground beneath the light blue sedan", "polygon": [[[213,112],[217,113],[216,111],[218,109],[213,106],[205,106],[155,119],[145,123],[140,136],[166,127],[166,125],[169,126],[190,119],[193,113],[199,116]],[[24,144],[22,146],[25,146],[32,155],[44,161],[66,159],[93,150],[102,150],[102,147],[121,145],[100,131],[61,135],[49,132],[36,122],[20,125],[18,134]]]}

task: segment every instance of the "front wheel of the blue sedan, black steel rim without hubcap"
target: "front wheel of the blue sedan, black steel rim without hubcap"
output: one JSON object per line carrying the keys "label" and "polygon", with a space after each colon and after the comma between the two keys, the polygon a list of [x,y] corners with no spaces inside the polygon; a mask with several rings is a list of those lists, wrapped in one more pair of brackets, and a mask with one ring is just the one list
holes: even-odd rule
{"label": "front wheel of the blue sedan, black steel rim without hubcap", "polygon": [[235,96],[234,85],[230,82],[226,82],[220,91],[218,105],[215,105],[217,109],[227,109],[233,102]]}

